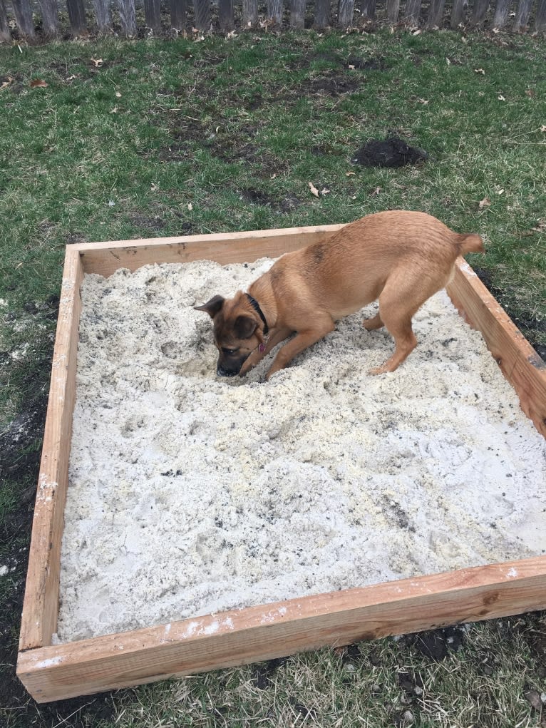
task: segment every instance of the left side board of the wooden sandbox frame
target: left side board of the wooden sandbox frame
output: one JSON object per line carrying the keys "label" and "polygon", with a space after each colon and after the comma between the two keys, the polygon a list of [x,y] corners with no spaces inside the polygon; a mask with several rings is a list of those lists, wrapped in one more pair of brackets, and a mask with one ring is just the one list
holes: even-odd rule
{"label": "left side board of the wooden sandbox frame", "polygon": [[44,430],[19,649],[50,644],[57,628],[60,542],[68,486],[68,456],[76,397],[76,352],[83,278],[76,251],[63,270],[50,398]]}

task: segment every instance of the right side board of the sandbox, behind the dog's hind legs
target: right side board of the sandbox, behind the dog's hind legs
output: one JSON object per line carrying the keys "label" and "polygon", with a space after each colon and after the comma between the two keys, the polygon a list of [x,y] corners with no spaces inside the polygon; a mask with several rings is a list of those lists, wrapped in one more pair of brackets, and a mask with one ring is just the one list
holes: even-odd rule
{"label": "right side board of the sandbox, behind the dog's hind legs", "polygon": [[447,291],[459,313],[482,333],[521,409],[546,437],[546,364],[462,258]]}

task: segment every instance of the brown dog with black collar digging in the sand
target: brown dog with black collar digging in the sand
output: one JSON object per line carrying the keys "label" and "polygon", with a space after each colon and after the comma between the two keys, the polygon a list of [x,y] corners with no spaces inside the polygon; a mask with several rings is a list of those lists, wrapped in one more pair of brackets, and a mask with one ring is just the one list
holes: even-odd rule
{"label": "brown dog with black collar digging in the sand", "polygon": [[447,285],[457,256],[471,252],[483,252],[479,235],[453,232],[431,215],[366,215],[325,242],[282,256],[248,293],[214,296],[195,308],[213,319],[220,376],[242,376],[296,332],[277,352],[269,379],[333,331],[336,320],[379,298],[379,313],[363,326],[386,326],[395,351],[371,373],[395,371],[417,344],[412,317]]}

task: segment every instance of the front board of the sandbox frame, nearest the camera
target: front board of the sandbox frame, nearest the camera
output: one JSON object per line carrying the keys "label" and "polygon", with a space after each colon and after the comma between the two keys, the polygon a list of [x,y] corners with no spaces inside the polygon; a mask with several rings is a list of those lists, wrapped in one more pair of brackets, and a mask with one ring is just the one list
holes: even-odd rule
{"label": "front board of the sandbox frame, nearest the camera", "polygon": [[531,558],[30,650],[17,675],[47,702],[545,606],[546,558]]}

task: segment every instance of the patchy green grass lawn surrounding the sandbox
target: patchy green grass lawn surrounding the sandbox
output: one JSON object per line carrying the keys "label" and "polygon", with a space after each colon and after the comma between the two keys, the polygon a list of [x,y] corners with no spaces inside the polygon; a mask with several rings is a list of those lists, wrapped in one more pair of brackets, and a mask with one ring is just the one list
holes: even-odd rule
{"label": "patchy green grass lawn surrounding the sandbox", "polygon": [[[472,625],[442,659],[384,640],[49,707],[13,678],[66,243],[426,210],[483,235],[486,256],[472,264],[544,353],[545,48],[398,30],[0,48],[0,722],[545,724],[529,692],[546,690],[543,615]],[[391,133],[427,162],[352,164],[365,141]],[[313,197],[309,182],[328,192]]]}

